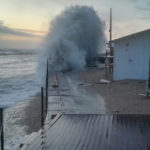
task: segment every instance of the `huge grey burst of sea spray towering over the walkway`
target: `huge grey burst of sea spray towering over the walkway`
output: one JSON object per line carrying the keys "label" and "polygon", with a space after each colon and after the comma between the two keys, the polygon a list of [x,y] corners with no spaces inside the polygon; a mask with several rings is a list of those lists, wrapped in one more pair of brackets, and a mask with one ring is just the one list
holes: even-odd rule
{"label": "huge grey burst of sea spray towering over the walkway", "polygon": [[104,33],[105,24],[92,7],[68,7],[51,21],[41,63],[45,65],[48,58],[51,69],[82,70],[104,50]]}

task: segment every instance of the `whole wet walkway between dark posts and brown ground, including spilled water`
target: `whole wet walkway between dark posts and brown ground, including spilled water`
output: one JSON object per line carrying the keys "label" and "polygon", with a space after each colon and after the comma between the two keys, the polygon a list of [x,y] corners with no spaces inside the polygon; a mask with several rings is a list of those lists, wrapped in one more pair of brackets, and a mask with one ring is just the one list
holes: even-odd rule
{"label": "whole wet walkway between dark posts and brown ground, including spilled water", "polygon": [[[49,86],[48,110],[60,114],[105,114],[103,98],[87,91],[80,81],[61,72],[56,74],[58,87]],[[52,79],[51,77],[49,79]],[[52,81],[49,81],[51,85]]]}

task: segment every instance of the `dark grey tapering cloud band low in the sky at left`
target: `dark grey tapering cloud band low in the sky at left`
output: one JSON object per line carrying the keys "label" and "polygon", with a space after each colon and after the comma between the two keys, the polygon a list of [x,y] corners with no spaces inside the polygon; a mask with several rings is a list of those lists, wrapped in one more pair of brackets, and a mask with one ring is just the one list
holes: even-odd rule
{"label": "dark grey tapering cloud band low in the sky at left", "polygon": [[33,34],[22,32],[17,29],[9,28],[4,25],[3,21],[0,21],[0,34],[9,34],[9,35],[16,35],[16,36],[26,36],[26,37],[33,37]]}

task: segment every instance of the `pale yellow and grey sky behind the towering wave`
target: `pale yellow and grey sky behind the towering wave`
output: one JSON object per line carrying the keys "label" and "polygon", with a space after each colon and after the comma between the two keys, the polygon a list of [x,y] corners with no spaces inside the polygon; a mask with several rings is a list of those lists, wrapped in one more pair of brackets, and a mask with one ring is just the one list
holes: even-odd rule
{"label": "pale yellow and grey sky behind the towering wave", "polygon": [[112,8],[113,39],[150,29],[150,0],[0,0],[0,48],[38,47],[51,20],[70,5],[92,6],[107,31]]}

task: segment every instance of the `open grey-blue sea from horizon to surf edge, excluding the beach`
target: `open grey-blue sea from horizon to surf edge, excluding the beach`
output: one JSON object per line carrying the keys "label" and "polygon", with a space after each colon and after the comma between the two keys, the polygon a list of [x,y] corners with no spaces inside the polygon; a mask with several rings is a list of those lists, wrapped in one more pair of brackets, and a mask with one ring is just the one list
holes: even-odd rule
{"label": "open grey-blue sea from horizon to surf edge, excluding the beach", "polygon": [[36,50],[0,49],[0,106],[12,106],[39,92],[36,66]]}

